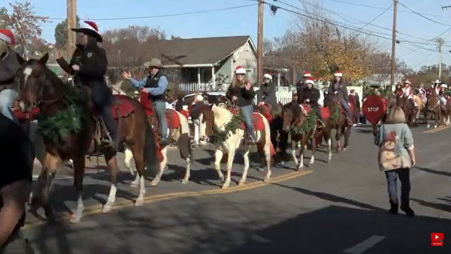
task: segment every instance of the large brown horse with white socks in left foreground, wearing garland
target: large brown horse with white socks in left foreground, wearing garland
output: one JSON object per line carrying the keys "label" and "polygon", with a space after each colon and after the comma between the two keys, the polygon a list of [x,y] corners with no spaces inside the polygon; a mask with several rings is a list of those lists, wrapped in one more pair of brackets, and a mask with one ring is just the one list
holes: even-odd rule
{"label": "large brown horse with white socks in left foreground, wearing garland", "polygon": [[[111,169],[111,189],[109,198],[104,205],[104,212],[109,212],[116,199],[116,184],[118,164],[116,161],[116,151],[111,148],[97,148],[99,139],[101,139],[101,127],[97,114],[92,114],[92,110],[88,108],[88,103],[80,105],[73,101],[75,96],[80,96],[85,101],[89,97],[85,93],[85,89],[78,86],[71,86],[61,81],[58,76],[47,68],[46,63],[49,55],[37,59],[30,59],[25,62],[19,59],[23,64],[23,76],[20,78],[20,94],[18,97],[20,108],[25,112],[30,112],[33,108],[39,108],[42,120],[51,120],[61,115],[61,112],[78,108],[80,113],[72,115],[70,118],[72,125],[79,125],[78,132],[74,129],[65,134],[58,135],[55,140],[49,136],[44,136],[44,144],[46,155],[44,165],[39,176],[37,189],[35,189],[32,197],[31,210],[36,210],[42,205],[46,216],[51,217],[52,211],[49,205],[49,193],[51,190],[51,182],[54,179],[56,170],[61,160],[73,160],[74,167],[74,186],[77,191],[78,207],[73,213],[70,222],[79,222],[82,217],[84,205],[82,202],[82,185],[85,170],[85,155],[91,153],[103,153],[105,160]],[[156,137],[154,130],[148,124],[144,110],[140,104],[127,96],[115,96],[113,101],[114,109],[117,115],[118,125],[118,144],[127,144],[128,148],[135,156],[137,172],[140,174],[140,194],[135,205],[144,203],[144,157],[149,163],[156,160]],[[121,105],[120,105],[121,104]],[[132,108],[128,115],[123,115],[119,111],[124,105]],[[69,111],[66,111],[69,112]],[[59,114],[58,114],[59,113]],[[39,120],[41,121],[41,120]],[[42,130],[44,125],[41,126]],[[48,130],[48,129],[47,129]],[[58,130],[56,130],[58,131]],[[75,133],[76,132],[76,133]]]}

